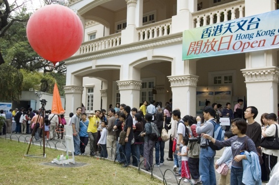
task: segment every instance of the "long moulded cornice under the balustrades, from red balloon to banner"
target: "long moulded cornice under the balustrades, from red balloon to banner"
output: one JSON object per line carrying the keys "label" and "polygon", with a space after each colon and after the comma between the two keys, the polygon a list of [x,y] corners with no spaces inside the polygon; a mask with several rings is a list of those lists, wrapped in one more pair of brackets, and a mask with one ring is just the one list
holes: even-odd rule
{"label": "long moulded cornice under the balustrades, from red balloon to banner", "polygon": [[81,63],[84,61],[97,60],[102,58],[108,58],[127,53],[133,53],[138,51],[148,50],[150,48],[162,48],[168,45],[182,44],[182,32],[169,34],[158,38],[137,41],[129,44],[119,45],[118,47],[104,49],[96,52],[90,52],[82,55],[77,55],[65,60],[66,65]]}

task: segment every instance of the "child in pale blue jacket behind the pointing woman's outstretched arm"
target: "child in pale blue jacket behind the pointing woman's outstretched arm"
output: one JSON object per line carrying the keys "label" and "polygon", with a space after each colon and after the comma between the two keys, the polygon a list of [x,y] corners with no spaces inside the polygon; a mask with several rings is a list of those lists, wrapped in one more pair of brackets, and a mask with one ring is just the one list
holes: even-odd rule
{"label": "child in pale blue jacket behind the pointing woman's outstretched arm", "polygon": [[[227,140],[228,138],[234,136],[231,131],[226,131],[224,133],[224,140]],[[220,174],[219,184],[220,185],[226,185],[230,184],[230,174],[231,174],[231,162],[232,162],[232,152],[231,147],[226,147],[222,157],[218,159],[215,163],[215,168],[217,169],[221,164],[226,163],[226,165],[229,167],[229,171],[227,175]]]}

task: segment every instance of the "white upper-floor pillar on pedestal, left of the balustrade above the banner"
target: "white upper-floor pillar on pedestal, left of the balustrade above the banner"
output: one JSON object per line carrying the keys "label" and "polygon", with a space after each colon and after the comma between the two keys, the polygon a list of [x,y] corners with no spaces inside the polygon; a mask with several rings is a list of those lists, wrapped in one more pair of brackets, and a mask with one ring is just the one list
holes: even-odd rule
{"label": "white upper-floor pillar on pedestal, left of the balustrade above the banner", "polygon": [[172,16],[172,33],[193,27],[192,12],[197,11],[197,0],[177,0],[177,15]]}

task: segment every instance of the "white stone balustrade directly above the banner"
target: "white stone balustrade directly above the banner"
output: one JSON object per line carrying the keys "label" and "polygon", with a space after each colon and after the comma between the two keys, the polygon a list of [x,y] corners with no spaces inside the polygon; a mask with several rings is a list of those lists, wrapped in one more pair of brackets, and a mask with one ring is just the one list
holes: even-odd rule
{"label": "white stone balustrade directly above the banner", "polygon": [[192,13],[193,28],[245,17],[245,0]]}

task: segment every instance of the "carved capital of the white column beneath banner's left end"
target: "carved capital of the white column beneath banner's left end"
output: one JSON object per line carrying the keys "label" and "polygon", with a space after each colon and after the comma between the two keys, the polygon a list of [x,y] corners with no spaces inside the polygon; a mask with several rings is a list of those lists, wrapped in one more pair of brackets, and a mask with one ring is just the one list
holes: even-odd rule
{"label": "carved capital of the white column beneath banner's left end", "polygon": [[197,86],[198,76],[192,74],[167,76],[170,86]]}

